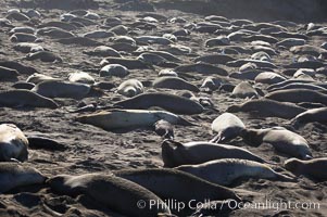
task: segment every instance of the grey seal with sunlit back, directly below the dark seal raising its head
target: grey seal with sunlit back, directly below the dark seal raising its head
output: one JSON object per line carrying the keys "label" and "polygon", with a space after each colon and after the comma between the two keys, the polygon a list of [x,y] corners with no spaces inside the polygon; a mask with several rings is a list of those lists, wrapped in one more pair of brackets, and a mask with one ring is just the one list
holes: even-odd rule
{"label": "grey seal with sunlit back, directly below the dark seal raising its head", "polygon": [[294,181],[293,178],[278,174],[265,164],[249,159],[215,159],[198,165],[183,165],[176,169],[221,186],[229,186],[238,179],[247,178]]}

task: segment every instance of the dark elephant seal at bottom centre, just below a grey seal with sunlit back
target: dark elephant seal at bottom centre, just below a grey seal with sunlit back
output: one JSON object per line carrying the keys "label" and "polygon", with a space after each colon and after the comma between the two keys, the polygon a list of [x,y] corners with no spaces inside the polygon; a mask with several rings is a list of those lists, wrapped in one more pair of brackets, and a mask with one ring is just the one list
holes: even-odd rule
{"label": "dark elephant seal at bottom centre, just below a grey seal with sunlit back", "polygon": [[[161,199],[174,199],[183,202],[226,199],[240,201],[234,191],[177,169],[126,169],[113,174],[140,184]],[[169,186],[169,188],[161,188],[162,186]],[[190,191],[190,189],[196,191]]]}

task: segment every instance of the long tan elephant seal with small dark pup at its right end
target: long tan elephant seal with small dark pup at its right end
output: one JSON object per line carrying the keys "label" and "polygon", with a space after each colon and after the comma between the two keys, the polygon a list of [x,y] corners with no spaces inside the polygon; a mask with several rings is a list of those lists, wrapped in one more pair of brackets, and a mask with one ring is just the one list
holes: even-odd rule
{"label": "long tan elephant seal with small dark pup at its right end", "polygon": [[100,127],[104,130],[117,130],[129,128],[152,127],[154,123],[164,119],[171,124],[192,126],[181,117],[164,111],[148,110],[113,110],[102,111],[89,115],[81,115],[77,122]]}

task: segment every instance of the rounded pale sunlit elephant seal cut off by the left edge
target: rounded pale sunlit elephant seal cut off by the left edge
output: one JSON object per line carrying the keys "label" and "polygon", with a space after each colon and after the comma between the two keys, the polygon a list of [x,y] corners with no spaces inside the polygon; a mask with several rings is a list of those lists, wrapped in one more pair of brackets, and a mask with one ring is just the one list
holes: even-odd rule
{"label": "rounded pale sunlit elephant seal cut off by the left edge", "polygon": [[28,140],[20,128],[12,124],[0,125],[0,162],[28,158]]}

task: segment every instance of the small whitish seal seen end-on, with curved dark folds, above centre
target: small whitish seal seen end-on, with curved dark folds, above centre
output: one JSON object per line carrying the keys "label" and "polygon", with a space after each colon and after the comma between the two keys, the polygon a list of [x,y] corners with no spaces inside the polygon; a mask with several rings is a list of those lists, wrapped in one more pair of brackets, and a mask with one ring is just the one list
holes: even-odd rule
{"label": "small whitish seal seen end-on, with curved dark folds, above centre", "polygon": [[144,87],[141,81],[138,79],[128,79],[122,82],[118,88],[117,92],[122,95],[131,98],[137,94],[140,94],[144,91]]}

